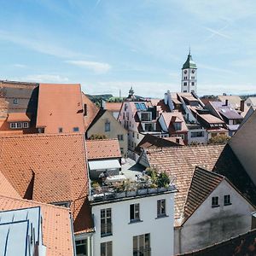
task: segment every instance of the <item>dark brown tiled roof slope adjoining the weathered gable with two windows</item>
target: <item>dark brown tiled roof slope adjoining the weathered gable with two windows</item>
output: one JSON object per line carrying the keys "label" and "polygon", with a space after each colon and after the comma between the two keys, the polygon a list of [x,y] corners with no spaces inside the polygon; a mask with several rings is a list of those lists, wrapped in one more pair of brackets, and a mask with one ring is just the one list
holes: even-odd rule
{"label": "dark brown tiled roof slope adjoining the weathered gable with two windows", "polygon": [[223,180],[224,176],[222,175],[209,172],[198,166],[195,167],[188,197],[184,206],[184,219],[189,218]]}

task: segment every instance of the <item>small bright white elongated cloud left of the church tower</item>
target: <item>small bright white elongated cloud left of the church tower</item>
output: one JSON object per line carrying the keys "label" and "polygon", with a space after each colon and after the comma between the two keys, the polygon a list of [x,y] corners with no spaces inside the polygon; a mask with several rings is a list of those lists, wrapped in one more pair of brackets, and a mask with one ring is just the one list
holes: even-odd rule
{"label": "small bright white elongated cloud left of the church tower", "polygon": [[94,73],[108,73],[111,66],[108,63],[96,61],[66,61],[74,66],[83,67],[93,71]]}

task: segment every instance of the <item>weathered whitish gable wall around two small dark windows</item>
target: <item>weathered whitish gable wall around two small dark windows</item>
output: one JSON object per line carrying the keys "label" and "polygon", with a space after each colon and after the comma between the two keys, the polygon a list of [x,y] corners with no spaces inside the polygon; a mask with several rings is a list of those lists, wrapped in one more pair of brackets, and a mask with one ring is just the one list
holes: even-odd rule
{"label": "weathered whitish gable wall around two small dark windows", "polygon": [[[230,206],[224,206],[224,195],[231,195]],[[219,207],[212,208],[212,196],[219,196]],[[251,230],[253,211],[253,207],[224,180],[183,228],[175,230],[175,253],[190,252],[246,233]]]}

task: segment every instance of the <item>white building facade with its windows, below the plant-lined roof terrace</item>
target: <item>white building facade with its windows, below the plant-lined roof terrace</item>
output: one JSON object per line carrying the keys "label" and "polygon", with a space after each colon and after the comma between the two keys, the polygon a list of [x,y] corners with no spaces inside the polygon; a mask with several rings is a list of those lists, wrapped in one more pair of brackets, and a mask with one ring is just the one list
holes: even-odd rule
{"label": "white building facade with its windows, below the plant-lined roof terrace", "polygon": [[93,255],[172,255],[173,192],[91,202]]}

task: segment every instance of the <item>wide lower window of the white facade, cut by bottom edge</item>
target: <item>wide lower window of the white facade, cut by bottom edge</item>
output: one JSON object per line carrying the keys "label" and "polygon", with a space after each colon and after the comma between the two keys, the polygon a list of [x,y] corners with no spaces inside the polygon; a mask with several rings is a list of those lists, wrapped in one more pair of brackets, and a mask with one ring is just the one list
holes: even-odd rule
{"label": "wide lower window of the white facade, cut by bottom edge", "polygon": [[150,256],[150,234],[133,236],[133,256]]}

